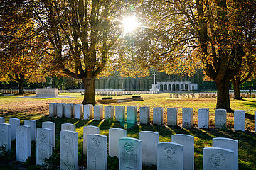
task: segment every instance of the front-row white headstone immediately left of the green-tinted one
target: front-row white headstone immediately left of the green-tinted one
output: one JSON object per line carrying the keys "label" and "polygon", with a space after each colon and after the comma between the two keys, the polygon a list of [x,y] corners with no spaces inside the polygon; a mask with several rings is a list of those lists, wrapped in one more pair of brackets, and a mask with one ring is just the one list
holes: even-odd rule
{"label": "front-row white headstone immediately left of the green-tinted one", "polygon": [[87,136],[87,169],[107,170],[107,136]]}

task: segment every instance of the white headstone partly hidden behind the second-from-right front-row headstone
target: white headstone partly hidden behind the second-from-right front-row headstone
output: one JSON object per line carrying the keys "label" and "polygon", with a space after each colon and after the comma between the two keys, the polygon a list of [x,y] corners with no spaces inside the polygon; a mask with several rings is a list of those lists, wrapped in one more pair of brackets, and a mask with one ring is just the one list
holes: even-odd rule
{"label": "white headstone partly hidden behind the second-from-right front-row headstone", "polygon": [[191,135],[171,135],[171,142],[183,145],[184,170],[194,169],[194,137]]}

